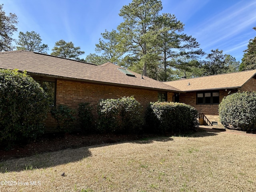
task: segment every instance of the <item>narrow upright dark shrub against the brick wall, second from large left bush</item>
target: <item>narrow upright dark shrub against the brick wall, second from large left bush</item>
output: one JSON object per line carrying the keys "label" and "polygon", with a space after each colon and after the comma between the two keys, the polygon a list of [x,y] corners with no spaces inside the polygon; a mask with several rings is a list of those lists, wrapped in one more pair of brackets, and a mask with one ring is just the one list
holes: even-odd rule
{"label": "narrow upright dark shrub against the brick wall, second from large left bush", "polygon": [[90,103],[80,103],[78,105],[78,117],[81,122],[82,132],[91,132],[92,125],[92,106]]}

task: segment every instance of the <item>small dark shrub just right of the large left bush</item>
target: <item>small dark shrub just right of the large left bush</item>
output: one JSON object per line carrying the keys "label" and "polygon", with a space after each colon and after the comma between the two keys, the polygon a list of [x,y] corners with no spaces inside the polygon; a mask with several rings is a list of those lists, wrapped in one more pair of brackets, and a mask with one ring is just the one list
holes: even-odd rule
{"label": "small dark shrub just right of the large left bush", "polygon": [[51,109],[52,116],[58,122],[58,131],[69,133],[72,131],[71,123],[75,120],[75,110],[66,105],[54,106]]}

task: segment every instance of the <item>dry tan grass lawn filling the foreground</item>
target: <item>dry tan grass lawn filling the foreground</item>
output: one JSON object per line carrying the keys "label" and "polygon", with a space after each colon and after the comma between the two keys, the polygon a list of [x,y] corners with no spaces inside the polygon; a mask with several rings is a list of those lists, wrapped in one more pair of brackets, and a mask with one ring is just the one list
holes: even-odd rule
{"label": "dry tan grass lawn filling the foreground", "polygon": [[0,168],[1,192],[255,192],[256,137],[197,132],[38,154]]}

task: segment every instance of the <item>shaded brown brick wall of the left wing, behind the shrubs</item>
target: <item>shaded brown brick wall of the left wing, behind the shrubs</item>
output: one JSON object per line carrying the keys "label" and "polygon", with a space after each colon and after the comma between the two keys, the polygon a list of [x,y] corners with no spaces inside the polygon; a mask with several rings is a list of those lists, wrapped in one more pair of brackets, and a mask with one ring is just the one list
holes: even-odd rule
{"label": "shaded brown brick wall of the left wing, behind the shrubs", "polygon": [[[173,95],[173,93],[168,93],[167,98],[169,102],[172,101]],[[134,98],[143,106],[144,115],[148,104],[158,100],[158,91],[101,84],[90,84],[68,80],[57,80],[56,83],[57,106],[59,104],[63,104],[68,105],[73,109],[77,109],[79,103],[90,102],[93,106],[94,120],[97,120],[98,118],[96,109],[100,99],[117,99],[123,96],[134,96]],[[46,121],[46,127],[48,131],[54,131],[55,126],[56,121],[49,115]],[[75,122],[74,126],[79,127],[79,122]]]}

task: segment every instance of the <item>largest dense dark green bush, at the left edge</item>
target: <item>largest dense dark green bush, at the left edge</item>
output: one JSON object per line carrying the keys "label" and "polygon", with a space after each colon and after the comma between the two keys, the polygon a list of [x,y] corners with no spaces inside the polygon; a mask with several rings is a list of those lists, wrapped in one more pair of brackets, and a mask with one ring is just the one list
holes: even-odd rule
{"label": "largest dense dark green bush, at the left edge", "polygon": [[49,99],[33,78],[0,70],[0,144],[35,139],[44,132]]}

